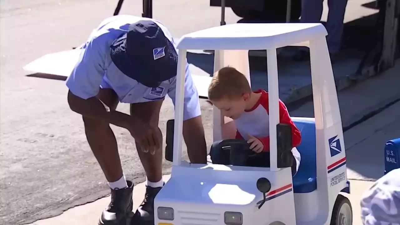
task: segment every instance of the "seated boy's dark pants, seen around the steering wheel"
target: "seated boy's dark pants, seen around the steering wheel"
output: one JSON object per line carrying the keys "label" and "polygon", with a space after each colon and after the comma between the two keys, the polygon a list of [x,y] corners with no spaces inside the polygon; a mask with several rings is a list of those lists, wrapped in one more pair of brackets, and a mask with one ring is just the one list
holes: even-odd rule
{"label": "seated boy's dark pants, seen around the steering wheel", "polygon": [[[216,141],[210,149],[211,161],[214,164],[230,165],[230,150],[218,147],[221,141]],[[292,156],[293,157],[293,156]],[[247,167],[270,167],[270,153],[261,152],[251,156],[246,161]],[[296,174],[296,160],[293,157],[292,176]]]}

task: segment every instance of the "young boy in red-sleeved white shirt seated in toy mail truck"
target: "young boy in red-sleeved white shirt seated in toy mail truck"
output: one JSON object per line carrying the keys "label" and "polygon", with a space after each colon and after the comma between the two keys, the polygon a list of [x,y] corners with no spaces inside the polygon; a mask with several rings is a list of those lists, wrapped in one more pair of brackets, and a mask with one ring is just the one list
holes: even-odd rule
{"label": "young boy in red-sleeved white shirt seated in toy mail truck", "polygon": [[[233,67],[220,69],[208,87],[208,99],[219,108],[222,115],[233,119],[236,126],[236,139],[245,139],[251,143],[250,149],[256,154],[249,157],[246,166],[270,167],[270,138],[268,121],[268,92],[252,91],[248,80]],[[300,165],[300,153],[295,148],[300,144],[300,131],[289,117],[285,104],[279,100],[280,123],[286,123],[292,128],[292,153],[294,164],[292,175],[295,175]],[[230,151],[212,145],[210,157],[212,163],[229,165]]]}

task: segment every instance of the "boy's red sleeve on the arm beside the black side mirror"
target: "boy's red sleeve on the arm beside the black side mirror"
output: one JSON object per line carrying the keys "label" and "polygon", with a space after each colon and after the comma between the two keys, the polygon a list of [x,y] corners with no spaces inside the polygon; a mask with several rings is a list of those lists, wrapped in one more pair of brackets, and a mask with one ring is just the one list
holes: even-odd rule
{"label": "boy's red sleeve on the arm beside the black side mirror", "polygon": [[[265,98],[265,100],[263,100],[261,102],[261,104],[262,104],[262,106],[264,106],[264,108],[267,110],[267,112],[269,114],[268,97]],[[289,116],[288,109],[286,108],[286,106],[282,102],[282,100],[280,100],[280,99],[279,99],[279,122],[288,124],[288,125],[290,125],[290,127],[292,127],[292,145],[293,145],[293,147],[300,145],[300,142],[301,142],[300,130],[296,127],[296,125],[294,125],[292,119]],[[264,145],[264,149],[262,151],[270,151],[270,137],[269,136],[268,137],[258,137],[258,139]]]}

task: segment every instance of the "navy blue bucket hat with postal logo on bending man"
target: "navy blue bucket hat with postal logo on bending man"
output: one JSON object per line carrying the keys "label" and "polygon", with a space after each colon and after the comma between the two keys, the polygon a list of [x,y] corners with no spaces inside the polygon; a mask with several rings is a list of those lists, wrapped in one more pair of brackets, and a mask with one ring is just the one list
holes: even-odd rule
{"label": "navy blue bucket hat with postal logo on bending man", "polygon": [[110,46],[110,55],[121,72],[148,87],[176,76],[178,54],[152,20],[130,24],[128,32]]}

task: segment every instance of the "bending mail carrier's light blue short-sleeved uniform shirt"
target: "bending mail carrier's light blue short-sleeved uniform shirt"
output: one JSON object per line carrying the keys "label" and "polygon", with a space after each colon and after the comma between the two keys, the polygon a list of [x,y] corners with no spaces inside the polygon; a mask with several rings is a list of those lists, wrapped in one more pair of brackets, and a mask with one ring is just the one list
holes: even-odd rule
{"label": "bending mail carrier's light blue short-sleeved uniform shirt", "polygon": [[[107,18],[90,34],[82,47],[74,70],[66,81],[66,85],[73,94],[87,99],[96,96],[100,87],[112,88],[118,94],[120,102],[125,103],[158,100],[168,94],[175,105],[176,76],[162,82],[157,88],[149,88],[123,74],[111,60],[110,45],[112,42],[126,32],[130,24],[139,20],[156,22],[165,36],[174,44],[170,32],[157,20],[130,15]],[[134,69],[132,68],[132,70]],[[186,64],[184,93],[184,120],[201,115],[198,92],[188,64]]]}

